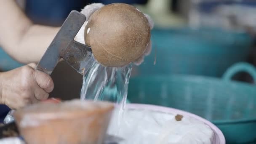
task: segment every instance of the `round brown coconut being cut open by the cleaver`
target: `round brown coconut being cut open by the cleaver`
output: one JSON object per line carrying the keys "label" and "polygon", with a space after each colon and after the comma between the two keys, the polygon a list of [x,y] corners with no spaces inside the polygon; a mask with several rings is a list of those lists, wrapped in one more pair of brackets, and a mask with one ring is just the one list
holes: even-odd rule
{"label": "round brown coconut being cut open by the cleaver", "polygon": [[106,67],[123,67],[141,57],[150,40],[147,18],[135,7],[114,3],[95,11],[85,27],[85,44]]}

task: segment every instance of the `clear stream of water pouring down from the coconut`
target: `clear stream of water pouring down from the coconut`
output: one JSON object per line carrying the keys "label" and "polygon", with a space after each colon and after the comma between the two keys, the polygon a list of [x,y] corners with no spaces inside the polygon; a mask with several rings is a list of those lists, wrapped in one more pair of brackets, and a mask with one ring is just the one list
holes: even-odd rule
{"label": "clear stream of water pouring down from the coconut", "polygon": [[80,99],[112,101],[119,104],[120,108],[119,115],[117,117],[117,126],[121,125],[121,122],[123,121],[125,103],[127,101],[131,69],[132,64],[116,68],[104,67],[95,61],[87,74],[83,77]]}

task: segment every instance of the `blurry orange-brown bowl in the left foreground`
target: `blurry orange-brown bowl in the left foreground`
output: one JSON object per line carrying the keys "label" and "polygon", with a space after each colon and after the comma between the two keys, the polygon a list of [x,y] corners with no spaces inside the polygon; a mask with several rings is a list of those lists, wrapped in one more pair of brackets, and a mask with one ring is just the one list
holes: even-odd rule
{"label": "blurry orange-brown bowl in the left foreground", "polygon": [[14,113],[27,144],[102,144],[114,106],[72,100],[34,104]]}

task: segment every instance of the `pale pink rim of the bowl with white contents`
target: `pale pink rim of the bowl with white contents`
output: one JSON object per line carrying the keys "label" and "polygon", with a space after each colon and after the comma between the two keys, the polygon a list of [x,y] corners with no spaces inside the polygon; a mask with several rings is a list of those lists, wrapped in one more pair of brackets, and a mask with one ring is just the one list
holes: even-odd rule
{"label": "pale pink rim of the bowl with white contents", "polygon": [[135,103],[129,103],[129,104],[125,104],[125,107],[127,108],[132,108],[132,109],[137,109],[137,108],[141,108],[141,109],[151,109],[151,110],[158,110],[161,112],[175,112],[175,113],[179,113],[181,115],[187,115],[190,117],[194,117],[197,120],[202,121],[203,123],[205,123],[206,125],[208,125],[219,137],[219,144],[226,144],[226,139],[223,135],[223,133],[221,132],[221,130],[219,128],[216,127],[216,125],[214,125],[213,123],[211,123],[210,121],[192,114],[190,112],[186,112],[183,110],[179,110],[179,109],[174,109],[171,107],[163,107],[163,106],[157,106],[157,105],[152,105],[152,104],[135,104]]}

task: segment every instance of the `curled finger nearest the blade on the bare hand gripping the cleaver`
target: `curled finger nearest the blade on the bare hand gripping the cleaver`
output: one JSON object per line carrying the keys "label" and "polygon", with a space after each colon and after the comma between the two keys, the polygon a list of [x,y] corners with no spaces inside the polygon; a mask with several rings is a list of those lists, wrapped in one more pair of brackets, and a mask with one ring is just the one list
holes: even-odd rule
{"label": "curled finger nearest the blade on the bare hand gripping the cleaver", "polygon": [[53,91],[53,80],[50,75],[47,75],[44,72],[40,72],[39,70],[35,70],[35,79],[40,88],[43,88],[44,91],[50,93]]}

